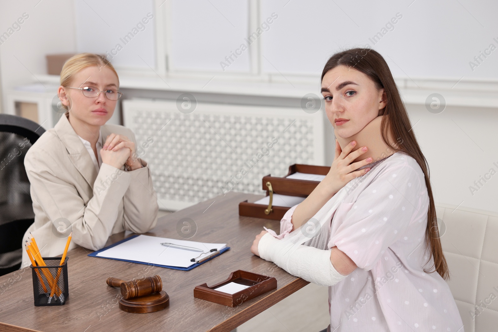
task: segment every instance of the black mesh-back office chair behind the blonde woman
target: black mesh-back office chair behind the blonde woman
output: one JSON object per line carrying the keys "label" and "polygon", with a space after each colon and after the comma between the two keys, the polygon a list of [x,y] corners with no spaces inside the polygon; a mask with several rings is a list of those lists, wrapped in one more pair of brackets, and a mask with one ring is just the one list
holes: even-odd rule
{"label": "black mesh-back office chair behind the blonde woman", "polygon": [[36,122],[0,114],[0,276],[21,266],[22,237],[34,222],[24,156],[44,132]]}

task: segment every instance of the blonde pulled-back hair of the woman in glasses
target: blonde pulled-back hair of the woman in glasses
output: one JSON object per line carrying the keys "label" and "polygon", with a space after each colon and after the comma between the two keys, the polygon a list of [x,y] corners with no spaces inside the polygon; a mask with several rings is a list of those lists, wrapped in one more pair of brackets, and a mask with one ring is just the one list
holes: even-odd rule
{"label": "blonde pulled-back hair of the woman in glasses", "polygon": [[[111,62],[109,62],[109,60],[107,60],[104,56],[94,53],[80,53],[73,55],[71,58],[67,59],[64,63],[64,66],[62,67],[60,84],[63,87],[68,87],[73,81],[76,73],[78,73],[83,68],[90,66],[98,66],[99,68],[108,67],[109,69],[111,69],[118,78],[119,87],[120,78]],[[64,109],[69,110],[67,106],[64,105],[63,107]]]}

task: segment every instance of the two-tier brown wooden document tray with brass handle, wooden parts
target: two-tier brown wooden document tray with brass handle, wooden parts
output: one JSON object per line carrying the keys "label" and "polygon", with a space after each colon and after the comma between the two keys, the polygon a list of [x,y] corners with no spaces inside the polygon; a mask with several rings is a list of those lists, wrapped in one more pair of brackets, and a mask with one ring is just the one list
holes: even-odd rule
{"label": "two-tier brown wooden document tray with brass handle, wooden parts", "polygon": [[266,175],[262,179],[262,189],[266,191],[266,196],[270,196],[270,204],[241,202],[239,203],[239,216],[281,220],[290,208],[272,206],[273,194],[308,197],[320,183],[319,181],[287,179],[286,177],[297,172],[327,175],[329,171],[330,167],[328,166],[294,164],[289,166],[289,172],[283,178]]}

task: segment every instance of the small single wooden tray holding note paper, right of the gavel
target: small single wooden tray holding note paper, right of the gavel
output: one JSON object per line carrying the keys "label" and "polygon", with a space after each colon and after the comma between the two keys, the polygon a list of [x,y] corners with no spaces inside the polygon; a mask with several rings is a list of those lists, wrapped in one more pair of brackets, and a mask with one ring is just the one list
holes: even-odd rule
{"label": "small single wooden tray holding note paper, right of the gavel", "polygon": [[[231,282],[250,287],[234,294],[220,292],[215,289]],[[277,280],[273,277],[237,270],[232,272],[227,280],[211,287],[208,287],[208,284],[196,286],[194,288],[194,297],[228,307],[235,307],[276,288]]]}

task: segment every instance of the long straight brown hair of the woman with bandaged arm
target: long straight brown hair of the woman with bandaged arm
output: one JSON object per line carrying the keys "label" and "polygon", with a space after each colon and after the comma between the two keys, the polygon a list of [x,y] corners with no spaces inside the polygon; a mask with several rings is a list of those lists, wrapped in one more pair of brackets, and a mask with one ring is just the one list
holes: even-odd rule
{"label": "long straight brown hair of the woman with bandaged arm", "polygon": [[[434,265],[429,270],[424,269],[424,271],[426,273],[437,271],[443,279],[447,280],[450,276],[448,264],[446,263],[446,258],[444,257],[443,249],[441,247],[441,240],[439,239],[440,236],[439,229],[437,227],[436,208],[434,205],[434,198],[432,197],[429,177],[429,166],[425,156],[420,150],[420,146],[418,145],[417,139],[413,134],[413,130],[409,130],[412,128],[410,119],[408,117],[408,113],[406,112],[405,106],[401,101],[401,97],[399,96],[399,91],[394,83],[389,66],[387,66],[384,58],[373,49],[353,48],[338,52],[330,57],[323,68],[321,81],[323,81],[323,77],[329,70],[341,65],[347,66],[348,68],[354,68],[367,75],[375,83],[377,90],[384,89],[387,96],[387,104],[383,111],[381,111],[380,115],[389,116],[382,117],[382,140],[388,146],[392,146],[387,139],[387,133],[389,130],[391,137],[397,137],[399,142],[396,144],[396,147],[392,146],[394,152],[402,151],[403,153],[411,156],[417,161],[420,168],[424,172],[425,185],[427,187],[427,194],[429,195],[427,228],[425,230],[425,250],[426,252],[427,250],[432,251],[432,257],[434,258]],[[401,141],[399,141],[399,138]],[[430,271],[432,268],[435,268],[434,271]]]}

